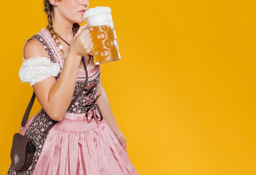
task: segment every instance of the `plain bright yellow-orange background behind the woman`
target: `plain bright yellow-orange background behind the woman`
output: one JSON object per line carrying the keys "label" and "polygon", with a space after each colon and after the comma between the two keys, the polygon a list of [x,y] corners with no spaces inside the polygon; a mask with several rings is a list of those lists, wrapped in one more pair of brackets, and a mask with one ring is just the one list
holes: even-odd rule
{"label": "plain bright yellow-orange background behind the woman", "polygon": [[[32,95],[18,70],[43,0],[1,0],[0,174]],[[255,175],[255,0],[91,0],[112,9],[121,60],[103,86],[140,175]],[[34,106],[35,114],[40,106]]]}

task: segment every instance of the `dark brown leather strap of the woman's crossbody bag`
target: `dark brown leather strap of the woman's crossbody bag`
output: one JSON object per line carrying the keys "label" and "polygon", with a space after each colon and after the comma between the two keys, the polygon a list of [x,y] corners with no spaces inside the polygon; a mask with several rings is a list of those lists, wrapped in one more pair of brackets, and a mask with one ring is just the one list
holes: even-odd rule
{"label": "dark brown leather strap of the woman's crossbody bag", "polygon": [[[84,57],[82,57],[82,60],[83,60],[83,66],[85,68],[85,74],[86,74],[86,78],[85,78],[85,83],[83,84],[83,88],[80,90],[80,92],[78,94],[76,94],[76,96],[74,97],[74,99],[71,101],[70,103],[70,106],[76,101],[76,99],[82,94],[83,92],[83,89],[85,88],[87,82],[88,82],[88,72],[87,72],[87,68],[86,68],[86,64],[85,64],[85,59]],[[89,91],[88,91],[89,92]],[[35,98],[36,98],[36,94],[35,92],[33,92],[33,95],[29,101],[29,105],[27,106],[27,109],[25,111],[25,114],[22,118],[22,122],[21,122],[21,126],[22,127],[25,127],[26,123],[27,123],[27,120],[29,118],[29,114],[30,114],[30,111],[31,111],[31,108],[34,104],[34,101],[35,101]],[[47,127],[47,129],[45,129],[45,131],[43,131],[43,133],[41,134],[41,138],[43,138],[45,136],[45,134],[50,130],[52,129],[52,127],[57,123],[57,121],[55,120],[52,120],[52,124],[49,125],[49,127]]]}

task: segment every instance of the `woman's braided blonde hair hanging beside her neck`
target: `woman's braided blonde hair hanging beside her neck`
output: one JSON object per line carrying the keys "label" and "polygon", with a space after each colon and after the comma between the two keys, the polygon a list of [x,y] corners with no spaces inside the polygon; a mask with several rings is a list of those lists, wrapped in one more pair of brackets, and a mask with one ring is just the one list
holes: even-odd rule
{"label": "woman's braided blonde hair hanging beside her neck", "polygon": [[[45,5],[45,13],[47,15],[47,20],[48,20],[48,29],[54,39],[54,41],[56,42],[56,44],[58,46],[61,45],[60,40],[58,39],[58,37],[56,36],[56,33],[54,31],[54,28],[52,27],[52,14],[54,13],[53,11],[53,5],[49,2],[49,0],[44,0],[44,5]],[[73,24],[73,28],[75,29],[74,32],[76,32],[79,29],[80,25],[79,24]],[[63,58],[66,59],[67,57],[67,53],[65,52],[65,50],[63,50],[63,48],[61,49],[61,54],[63,55]]]}

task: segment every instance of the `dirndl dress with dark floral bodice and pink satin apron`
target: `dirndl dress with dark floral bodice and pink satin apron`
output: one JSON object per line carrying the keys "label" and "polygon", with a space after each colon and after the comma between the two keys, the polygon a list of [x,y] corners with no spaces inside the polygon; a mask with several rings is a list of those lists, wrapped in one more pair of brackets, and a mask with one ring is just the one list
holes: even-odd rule
{"label": "dirndl dress with dark floral bodice and pink satin apron", "polygon": [[[43,28],[31,39],[38,40],[51,63],[60,66],[56,76],[58,81],[65,59],[53,37]],[[27,171],[22,172],[14,171],[11,165],[7,175],[137,175],[126,151],[106,121],[97,118],[99,111],[94,100],[100,66],[95,66],[91,60],[87,71],[88,82],[82,94],[47,136],[37,140],[52,123],[43,109],[27,121],[21,133],[31,140],[37,140],[33,162]],[[83,87],[85,78],[85,70],[79,70],[74,96]],[[91,122],[88,122],[87,115],[94,116]]]}

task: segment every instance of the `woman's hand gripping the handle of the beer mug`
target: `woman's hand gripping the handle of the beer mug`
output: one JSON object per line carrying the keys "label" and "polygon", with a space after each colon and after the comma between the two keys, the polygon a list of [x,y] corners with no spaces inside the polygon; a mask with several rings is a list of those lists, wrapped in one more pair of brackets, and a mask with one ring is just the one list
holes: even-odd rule
{"label": "woman's hand gripping the handle of the beer mug", "polygon": [[70,43],[70,53],[79,57],[88,55],[93,48],[90,31],[87,29],[87,24],[79,27],[76,35]]}

